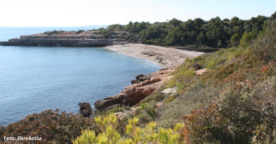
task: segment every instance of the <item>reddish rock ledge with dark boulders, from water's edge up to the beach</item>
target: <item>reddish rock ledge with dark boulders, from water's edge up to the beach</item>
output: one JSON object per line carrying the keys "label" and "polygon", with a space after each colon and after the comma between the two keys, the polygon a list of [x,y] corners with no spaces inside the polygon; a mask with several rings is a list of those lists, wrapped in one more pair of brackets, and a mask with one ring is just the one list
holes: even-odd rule
{"label": "reddish rock ledge with dark boulders, from water's edge up to the beach", "polygon": [[100,112],[105,112],[109,109],[116,108],[122,105],[133,106],[139,103],[140,100],[143,100],[145,97],[156,91],[163,84],[163,81],[165,79],[172,78],[172,76],[169,76],[169,74],[171,74],[171,72],[173,72],[176,67],[177,66],[172,66],[170,68],[161,69],[154,73],[151,73],[147,75],[151,77],[150,79],[144,80],[138,84],[127,86],[125,87],[125,91],[122,91],[115,96],[106,97],[103,100],[98,100],[95,102],[94,106]]}

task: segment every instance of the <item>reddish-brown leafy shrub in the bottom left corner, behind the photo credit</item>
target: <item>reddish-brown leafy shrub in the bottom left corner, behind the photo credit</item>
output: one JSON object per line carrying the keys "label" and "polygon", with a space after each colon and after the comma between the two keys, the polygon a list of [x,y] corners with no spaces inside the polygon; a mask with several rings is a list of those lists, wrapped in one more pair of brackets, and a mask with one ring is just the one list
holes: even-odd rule
{"label": "reddish-brown leafy shrub in the bottom left corner, behind the photo credit", "polygon": [[[81,134],[82,129],[94,130],[99,133],[99,127],[94,119],[67,112],[46,110],[26,116],[24,119],[9,124],[1,135],[9,137],[41,137],[41,141],[19,140],[19,143],[60,143],[66,144]],[[1,142],[1,143],[2,143]]]}

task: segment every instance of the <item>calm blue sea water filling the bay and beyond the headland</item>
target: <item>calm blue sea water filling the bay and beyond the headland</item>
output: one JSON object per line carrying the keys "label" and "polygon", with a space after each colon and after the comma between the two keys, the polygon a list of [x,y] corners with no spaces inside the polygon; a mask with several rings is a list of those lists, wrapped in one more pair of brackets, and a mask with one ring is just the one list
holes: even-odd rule
{"label": "calm blue sea water filling the bay and beyond the headland", "polygon": [[[26,27],[7,28],[17,29],[15,36],[6,28],[0,27],[2,40],[40,33],[39,28],[31,33]],[[159,69],[148,60],[99,47],[0,46],[0,120],[6,126],[47,109],[78,112],[80,102],[94,107],[95,101],[123,91],[136,75]]]}

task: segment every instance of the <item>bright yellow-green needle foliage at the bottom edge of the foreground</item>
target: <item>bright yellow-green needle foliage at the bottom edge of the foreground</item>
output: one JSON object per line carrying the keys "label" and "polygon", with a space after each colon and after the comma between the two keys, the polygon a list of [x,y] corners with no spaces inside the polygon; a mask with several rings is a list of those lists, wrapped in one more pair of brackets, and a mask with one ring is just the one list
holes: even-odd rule
{"label": "bright yellow-green needle foliage at the bottom edge of the foreground", "polygon": [[128,119],[125,134],[128,138],[122,138],[115,126],[117,117],[114,114],[109,116],[97,116],[95,121],[102,129],[102,133],[95,135],[93,130],[82,131],[82,135],[76,138],[73,144],[176,144],[178,143],[179,132],[184,125],[177,123],[174,129],[161,128],[159,132],[155,131],[156,123],[150,122],[144,128],[137,127],[138,118]]}

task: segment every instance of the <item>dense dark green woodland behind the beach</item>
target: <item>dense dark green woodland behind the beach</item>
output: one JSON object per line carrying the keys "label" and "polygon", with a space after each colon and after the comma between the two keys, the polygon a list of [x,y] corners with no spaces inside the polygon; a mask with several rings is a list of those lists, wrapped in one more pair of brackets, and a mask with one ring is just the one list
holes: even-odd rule
{"label": "dense dark green woodland behind the beach", "polygon": [[220,17],[211,18],[204,21],[201,18],[181,21],[177,19],[167,20],[166,22],[129,22],[125,26],[120,24],[109,25],[107,28],[98,29],[98,34],[117,35],[114,31],[123,31],[130,33],[128,41],[134,41],[137,35],[141,44],[151,44],[159,46],[187,46],[199,45],[214,48],[237,47],[240,39],[243,38],[243,44],[249,43],[248,39],[255,38],[263,30],[268,20],[276,18],[276,13],[271,17],[257,16],[249,20],[242,20],[239,17],[221,19]]}

